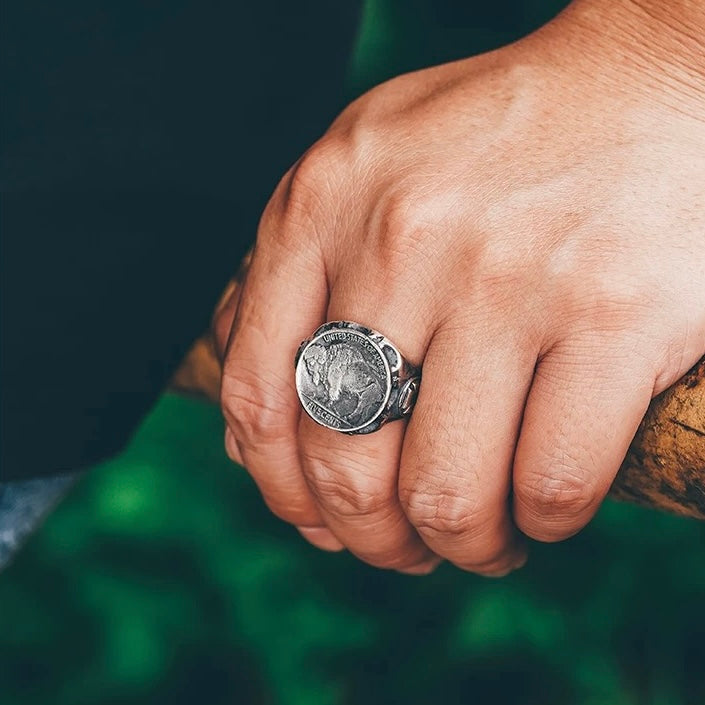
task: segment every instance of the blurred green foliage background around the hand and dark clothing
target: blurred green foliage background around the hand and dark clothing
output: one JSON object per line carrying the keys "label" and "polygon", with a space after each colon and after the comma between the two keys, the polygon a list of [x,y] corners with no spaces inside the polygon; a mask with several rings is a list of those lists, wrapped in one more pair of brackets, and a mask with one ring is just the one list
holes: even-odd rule
{"label": "blurred green foliage background around the hand and dark clothing", "polygon": [[[368,2],[350,95],[560,2]],[[167,394],[0,577],[0,705],[702,705],[705,525],[605,504],[499,581],[324,554]]]}

